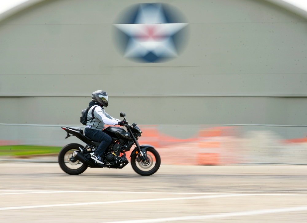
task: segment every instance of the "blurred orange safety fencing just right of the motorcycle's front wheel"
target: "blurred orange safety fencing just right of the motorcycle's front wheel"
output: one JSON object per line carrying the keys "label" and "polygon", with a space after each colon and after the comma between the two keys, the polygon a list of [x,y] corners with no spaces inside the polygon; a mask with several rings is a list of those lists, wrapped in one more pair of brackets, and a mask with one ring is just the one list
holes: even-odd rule
{"label": "blurred orange safety fencing just right of the motorcycle's front wheel", "polygon": [[[235,145],[235,127],[202,129],[196,137],[179,139],[158,131],[157,127],[141,127],[138,142],[154,146],[164,164],[222,165],[238,163],[240,152]],[[145,137],[143,137],[145,136]]]}

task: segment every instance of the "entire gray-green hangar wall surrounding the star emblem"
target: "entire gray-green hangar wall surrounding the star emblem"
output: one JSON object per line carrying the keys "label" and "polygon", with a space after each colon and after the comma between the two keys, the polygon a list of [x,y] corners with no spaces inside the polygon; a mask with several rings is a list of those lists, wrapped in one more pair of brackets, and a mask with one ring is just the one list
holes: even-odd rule
{"label": "entire gray-green hangar wall surrounding the star emblem", "polygon": [[144,2],[47,0],[0,21],[0,123],[80,125],[103,89],[108,113],[140,124],[305,124],[305,18],[261,0],[158,1],[185,15],[187,46],[137,63],[113,24]]}

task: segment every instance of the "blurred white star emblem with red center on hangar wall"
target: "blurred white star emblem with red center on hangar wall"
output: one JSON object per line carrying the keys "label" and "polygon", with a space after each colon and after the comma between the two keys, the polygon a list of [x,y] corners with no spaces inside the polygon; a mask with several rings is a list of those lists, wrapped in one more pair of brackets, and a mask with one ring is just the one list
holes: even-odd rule
{"label": "blurred white star emblem with red center on hangar wall", "polygon": [[[168,21],[170,15],[161,3],[140,4],[133,23],[114,24],[125,37],[123,56],[141,59],[144,62],[159,62],[178,57],[176,35],[188,25]],[[182,33],[181,33],[182,34]]]}

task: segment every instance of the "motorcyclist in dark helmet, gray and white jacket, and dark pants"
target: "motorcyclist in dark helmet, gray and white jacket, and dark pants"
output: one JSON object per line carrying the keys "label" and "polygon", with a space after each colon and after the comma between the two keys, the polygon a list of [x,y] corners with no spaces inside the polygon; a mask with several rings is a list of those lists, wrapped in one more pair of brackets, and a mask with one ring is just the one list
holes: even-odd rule
{"label": "motorcyclist in dark helmet, gray and white jacket, and dark pants", "polygon": [[[107,125],[124,125],[123,121],[115,119],[107,114],[104,107],[107,107],[109,104],[108,95],[105,91],[95,91],[92,93],[92,100],[89,103],[89,111],[87,113],[87,123],[84,128],[84,134],[96,142],[101,142],[91,156],[96,162],[104,164],[103,162],[103,152],[106,151],[107,147],[111,143],[111,136],[104,133],[104,124]],[[94,117],[92,117],[92,109],[94,109]]]}

